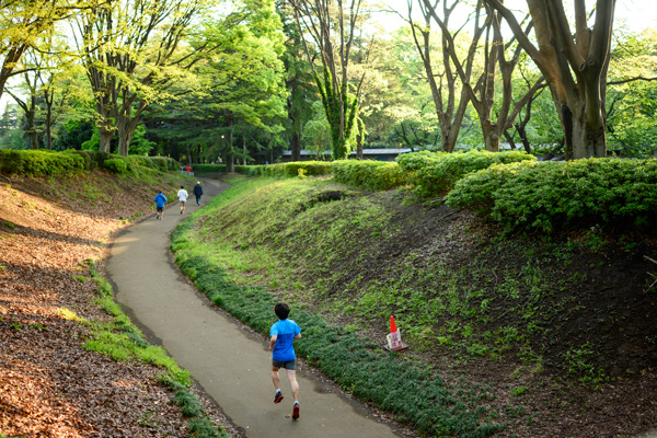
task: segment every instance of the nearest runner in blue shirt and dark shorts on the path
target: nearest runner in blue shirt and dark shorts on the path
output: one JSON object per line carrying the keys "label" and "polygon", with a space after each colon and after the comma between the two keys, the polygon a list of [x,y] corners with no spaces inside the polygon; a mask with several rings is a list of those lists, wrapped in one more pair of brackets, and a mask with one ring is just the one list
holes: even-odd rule
{"label": "nearest runner in blue shirt and dark shorts on the path", "polygon": [[292,418],[299,418],[299,383],[297,382],[297,362],[295,355],[293,339],[301,338],[301,327],[292,320],[288,320],[290,308],[288,304],[278,303],[274,307],[274,312],[280,321],[272,325],[269,334],[269,349],[272,354],[272,381],[276,388],[274,403],[280,403],[283,393],[280,392],[280,378],[278,370],[285,368],[292,389],[295,404],[292,405]]}

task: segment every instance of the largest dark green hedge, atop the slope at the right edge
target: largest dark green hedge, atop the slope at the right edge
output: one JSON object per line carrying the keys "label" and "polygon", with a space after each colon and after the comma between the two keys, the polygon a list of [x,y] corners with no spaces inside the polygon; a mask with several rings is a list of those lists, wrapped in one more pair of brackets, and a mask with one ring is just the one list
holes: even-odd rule
{"label": "largest dark green hedge, atop the slope at the right edge", "polygon": [[457,183],[447,203],[514,228],[657,224],[657,160],[614,158],[494,165]]}

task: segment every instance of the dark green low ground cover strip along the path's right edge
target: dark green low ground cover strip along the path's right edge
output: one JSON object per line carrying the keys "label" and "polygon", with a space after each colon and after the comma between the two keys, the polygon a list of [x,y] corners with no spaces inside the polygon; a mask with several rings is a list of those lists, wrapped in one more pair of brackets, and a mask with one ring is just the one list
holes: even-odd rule
{"label": "dark green low ground cover strip along the path's right edge", "polygon": [[[234,284],[223,269],[199,255],[200,244],[188,243],[194,226],[188,219],[172,235],[176,263],[212,302],[260,333],[268,333],[275,297],[260,287]],[[188,254],[191,247],[195,255]],[[208,251],[210,247],[204,246],[200,252]],[[361,400],[393,412],[400,420],[431,436],[485,437],[504,428],[502,424],[482,422],[486,408],[477,404],[487,396],[485,392],[459,397],[435,370],[399,360],[371,341],[331,326],[298,307],[292,312],[303,327],[303,338],[296,348],[299,356]]]}

